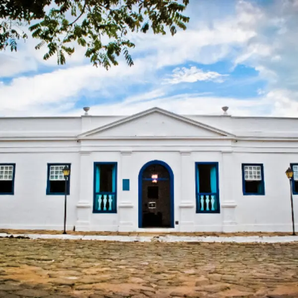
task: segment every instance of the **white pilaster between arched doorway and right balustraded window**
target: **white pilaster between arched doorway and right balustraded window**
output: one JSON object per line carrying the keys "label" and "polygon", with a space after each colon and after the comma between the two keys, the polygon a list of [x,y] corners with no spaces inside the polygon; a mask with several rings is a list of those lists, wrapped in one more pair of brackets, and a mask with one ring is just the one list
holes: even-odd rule
{"label": "white pilaster between arched doorway and right balustraded window", "polygon": [[196,196],[192,183],[193,181],[195,181],[195,166],[194,162],[192,162],[191,159],[191,152],[180,151],[180,161],[181,187],[179,203],[179,230],[191,232],[194,231],[196,213]]}

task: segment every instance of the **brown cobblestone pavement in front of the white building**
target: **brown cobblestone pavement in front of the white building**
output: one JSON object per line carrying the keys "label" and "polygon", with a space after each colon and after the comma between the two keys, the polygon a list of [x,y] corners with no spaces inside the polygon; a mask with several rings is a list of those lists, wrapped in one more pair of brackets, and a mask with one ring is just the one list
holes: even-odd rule
{"label": "brown cobblestone pavement in front of the white building", "polygon": [[0,298],[298,298],[298,243],[0,238]]}

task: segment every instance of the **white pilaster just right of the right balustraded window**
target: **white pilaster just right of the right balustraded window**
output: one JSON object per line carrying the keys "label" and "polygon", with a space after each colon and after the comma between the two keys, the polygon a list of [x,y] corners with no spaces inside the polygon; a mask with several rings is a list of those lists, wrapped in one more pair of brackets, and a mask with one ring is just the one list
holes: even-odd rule
{"label": "white pilaster just right of the right balustraded window", "polygon": [[237,206],[233,191],[233,154],[231,151],[223,152],[223,176],[220,181],[221,193],[221,212],[223,214],[223,231],[236,231],[235,208]]}

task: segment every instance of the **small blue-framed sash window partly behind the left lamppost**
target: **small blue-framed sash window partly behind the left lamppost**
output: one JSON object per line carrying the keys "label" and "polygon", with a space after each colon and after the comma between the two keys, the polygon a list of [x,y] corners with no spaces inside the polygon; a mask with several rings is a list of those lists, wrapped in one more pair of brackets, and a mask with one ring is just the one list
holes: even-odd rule
{"label": "small blue-framed sash window partly behind the left lamppost", "polygon": [[[63,175],[63,168],[68,166],[71,169],[70,163],[48,163],[47,175],[47,195],[64,195],[65,194],[65,178]],[[71,174],[67,180],[67,195],[70,194]]]}

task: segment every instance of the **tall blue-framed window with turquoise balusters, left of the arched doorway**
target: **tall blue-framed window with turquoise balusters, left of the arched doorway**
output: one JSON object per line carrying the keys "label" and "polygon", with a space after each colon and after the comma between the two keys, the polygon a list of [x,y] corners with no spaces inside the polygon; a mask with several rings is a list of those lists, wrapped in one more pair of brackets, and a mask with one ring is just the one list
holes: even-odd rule
{"label": "tall blue-framed window with turquoise balusters, left of the arched doorway", "polygon": [[94,162],[93,213],[117,213],[117,162]]}

